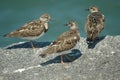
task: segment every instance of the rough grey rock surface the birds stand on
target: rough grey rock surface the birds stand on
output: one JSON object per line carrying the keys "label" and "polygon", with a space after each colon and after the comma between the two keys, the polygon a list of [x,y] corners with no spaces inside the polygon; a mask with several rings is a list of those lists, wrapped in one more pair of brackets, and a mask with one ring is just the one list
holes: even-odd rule
{"label": "rough grey rock surface the birds stand on", "polygon": [[48,45],[32,49],[22,44],[0,49],[0,80],[120,80],[120,36],[101,37],[93,44],[81,38],[71,52],[63,52],[73,59],[64,58],[65,64],[59,54],[38,56]]}

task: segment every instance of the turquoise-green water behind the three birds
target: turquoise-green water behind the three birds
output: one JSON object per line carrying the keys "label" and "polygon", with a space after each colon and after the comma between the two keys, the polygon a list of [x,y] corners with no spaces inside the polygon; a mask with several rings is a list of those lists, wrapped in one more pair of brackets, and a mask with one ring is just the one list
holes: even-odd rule
{"label": "turquoise-green water behind the three birds", "polygon": [[120,35],[119,0],[4,0],[0,1],[0,47],[25,41],[19,38],[3,38],[24,23],[38,19],[41,14],[49,13],[53,19],[48,32],[38,42],[53,41],[59,34],[68,30],[64,26],[70,20],[76,20],[82,37],[86,37],[84,23],[91,5],[97,5],[105,15],[105,29],[100,35]]}

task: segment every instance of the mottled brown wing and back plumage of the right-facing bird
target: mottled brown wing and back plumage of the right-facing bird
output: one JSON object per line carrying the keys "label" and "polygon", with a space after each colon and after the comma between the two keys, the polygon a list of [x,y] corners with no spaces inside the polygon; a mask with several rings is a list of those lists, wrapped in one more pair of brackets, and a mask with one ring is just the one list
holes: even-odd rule
{"label": "mottled brown wing and back plumage of the right-facing bird", "polygon": [[35,37],[39,36],[45,30],[44,23],[42,23],[40,20],[35,20],[7,34],[6,37]]}

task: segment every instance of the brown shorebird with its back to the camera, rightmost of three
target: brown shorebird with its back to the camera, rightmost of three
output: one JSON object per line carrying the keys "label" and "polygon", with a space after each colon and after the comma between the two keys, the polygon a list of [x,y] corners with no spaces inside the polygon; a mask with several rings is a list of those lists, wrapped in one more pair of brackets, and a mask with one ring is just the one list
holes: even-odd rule
{"label": "brown shorebird with its back to the camera, rightmost of three", "polygon": [[104,29],[104,15],[100,13],[97,6],[91,6],[87,9],[91,13],[87,16],[85,23],[85,31],[87,33],[87,40],[93,42],[99,33]]}

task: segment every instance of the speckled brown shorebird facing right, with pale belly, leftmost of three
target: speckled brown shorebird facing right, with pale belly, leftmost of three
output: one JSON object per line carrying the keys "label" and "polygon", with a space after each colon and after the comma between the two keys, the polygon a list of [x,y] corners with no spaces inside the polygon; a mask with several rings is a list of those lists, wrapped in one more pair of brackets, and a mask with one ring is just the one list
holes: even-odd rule
{"label": "speckled brown shorebird facing right, with pale belly, leftmost of three", "polygon": [[4,37],[18,37],[30,40],[31,46],[34,48],[32,41],[38,39],[47,32],[50,19],[51,17],[48,14],[43,14],[38,20],[26,23],[19,29],[5,34]]}

